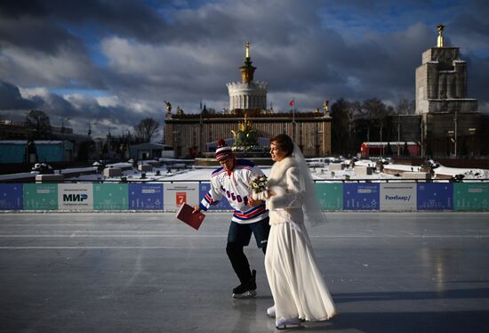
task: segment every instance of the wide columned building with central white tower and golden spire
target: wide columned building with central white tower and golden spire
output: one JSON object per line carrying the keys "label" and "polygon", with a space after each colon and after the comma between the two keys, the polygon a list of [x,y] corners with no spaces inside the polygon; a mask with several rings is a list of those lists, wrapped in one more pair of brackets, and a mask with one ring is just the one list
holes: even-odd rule
{"label": "wide columned building with central white tower and golden spire", "polygon": [[[253,81],[255,67],[246,43],[241,83],[229,83],[229,110],[221,113],[204,108],[199,113],[176,114],[168,108],[164,120],[164,143],[171,145],[175,157],[197,157],[212,152],[212,142],[219,138],[234,142],[233,132],[243,121],[248,121],[257,136],[258,144],[269,144],[269,138],[288,134],[301,147],[307,157],[325,156],[331,151],[331,117],[326,112],[277,113],[267,110],[267,83]],[[170,104],[171,105],[171,104]]]}

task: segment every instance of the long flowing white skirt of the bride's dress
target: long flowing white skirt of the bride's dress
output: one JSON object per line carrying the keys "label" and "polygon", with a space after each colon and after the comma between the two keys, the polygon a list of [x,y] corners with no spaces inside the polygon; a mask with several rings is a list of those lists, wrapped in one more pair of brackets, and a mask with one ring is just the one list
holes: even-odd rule
{"label": "long flowing white skirt of the bride's dress", "polygon": [[336,313],[303,224],[272,224],[265,269],[277,319],[325,321]]}

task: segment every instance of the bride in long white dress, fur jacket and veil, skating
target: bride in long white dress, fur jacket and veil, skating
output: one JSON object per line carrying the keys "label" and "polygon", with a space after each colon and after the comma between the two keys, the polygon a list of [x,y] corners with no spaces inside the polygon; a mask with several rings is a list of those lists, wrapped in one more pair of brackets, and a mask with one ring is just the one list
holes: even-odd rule
{"label": "bride in long white dress, fur jacket and veil, skating", "polygon": [[270,140],[270,155],[276,163],[269,190],[254,196],[266,199],[271,225],[265,268],[275,305],[267,313],[276,317],[277,329],[289,329],[301,321],[328,320],[336,310],[304,225],[305,218],[310,223],[325,221],[309,168],[285,134]]}

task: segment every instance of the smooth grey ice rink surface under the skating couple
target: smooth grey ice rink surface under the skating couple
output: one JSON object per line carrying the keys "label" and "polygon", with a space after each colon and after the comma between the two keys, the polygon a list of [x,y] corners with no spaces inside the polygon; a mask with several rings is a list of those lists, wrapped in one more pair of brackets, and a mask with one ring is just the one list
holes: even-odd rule
{"label": "smooth grey ice rink surface under the skating couple", "polygon": [[[489,332],[489,214],[332,213],[309,228],[339,315],[301,332]],[[273,332],[231,298],[230,213],[199,231],[172,213],[0,215],[0,332]]]}

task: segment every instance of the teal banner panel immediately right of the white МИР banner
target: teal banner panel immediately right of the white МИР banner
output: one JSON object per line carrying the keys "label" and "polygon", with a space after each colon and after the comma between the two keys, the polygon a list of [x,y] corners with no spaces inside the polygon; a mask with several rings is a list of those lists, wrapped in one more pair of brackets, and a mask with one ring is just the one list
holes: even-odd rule
{"label": "teal banner panel immediately right of the white \u041c\u0418\u0420 banner", "polygon": [[126,183],[93,184],[93,209],[124,210],[127,207]]}

